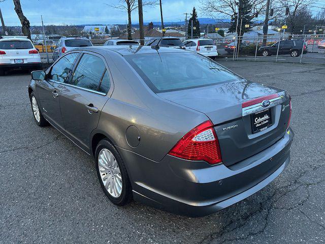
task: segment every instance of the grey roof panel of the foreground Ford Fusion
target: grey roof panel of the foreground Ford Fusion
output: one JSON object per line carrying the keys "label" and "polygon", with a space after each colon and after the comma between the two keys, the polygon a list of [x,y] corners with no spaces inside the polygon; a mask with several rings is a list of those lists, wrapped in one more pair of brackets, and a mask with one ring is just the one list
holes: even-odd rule
{"label": "grey roof panel of the foreground Ford Fusion", "polygon": [[84,50],[84,51],[94,51],[100,54],[105,54],[107,52],[115,52],[121,56],[133,55],[133,54],[148,54],[148,53],[166,53],[166,52],[190,52],[185,51],[180,48],[169,48],[160,47],[154,49],[151,46],[92,46],[92,47],[79,47],[74,50]]}

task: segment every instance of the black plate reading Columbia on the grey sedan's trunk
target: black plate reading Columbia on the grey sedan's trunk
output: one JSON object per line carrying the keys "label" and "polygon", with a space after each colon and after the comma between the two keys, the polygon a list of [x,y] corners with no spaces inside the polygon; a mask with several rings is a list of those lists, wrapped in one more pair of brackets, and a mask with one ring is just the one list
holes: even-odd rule
{"label": "black plate reading Columbia on the grey sedan's trunk", "polygon": [[273,125],[271,108],[250,115],[252,133],[264,131]]}

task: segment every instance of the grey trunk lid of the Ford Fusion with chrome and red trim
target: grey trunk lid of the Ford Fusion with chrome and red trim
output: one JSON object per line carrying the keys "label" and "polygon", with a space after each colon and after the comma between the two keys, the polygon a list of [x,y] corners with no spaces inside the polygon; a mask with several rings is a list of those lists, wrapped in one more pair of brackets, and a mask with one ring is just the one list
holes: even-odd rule
{"label": "grey trunk lid of the Ford Fusion with chrome and red trim", "polygon": [[[211,119],[226,166],[274,144],[283,137],[289,117],[289,99],[285,92],[246,80],[157,95],[203,112]],[[270,101],[270,105],[263,107],[264,100]],[[264,123],[268,116],[270,125],[266,129],[259,126],[263,130],[254,133],[252,121]]]}

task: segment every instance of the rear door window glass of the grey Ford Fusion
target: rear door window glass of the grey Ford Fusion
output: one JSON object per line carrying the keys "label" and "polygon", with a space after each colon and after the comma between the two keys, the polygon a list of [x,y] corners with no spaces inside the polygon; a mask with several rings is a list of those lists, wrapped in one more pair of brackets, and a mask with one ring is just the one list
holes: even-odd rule
{"label": "rear door window glass of the grey Ford Fusion", "polygon": [[70,84],[97,91],[106,67],[103,60],[95,55],[83,54]]}

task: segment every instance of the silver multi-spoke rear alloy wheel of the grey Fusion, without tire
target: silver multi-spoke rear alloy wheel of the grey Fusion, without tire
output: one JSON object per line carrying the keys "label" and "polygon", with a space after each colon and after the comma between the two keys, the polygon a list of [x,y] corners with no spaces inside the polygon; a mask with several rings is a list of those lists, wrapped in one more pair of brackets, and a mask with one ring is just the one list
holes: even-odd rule
{"label": "silver multi-spoke rear alloy wheel of the grey Fusion, without tire", "polygon": [[103,185],[114,198],[122,193],[122,175],[114,155],[107,148],[103,148],[98,155],[98,168]]}

